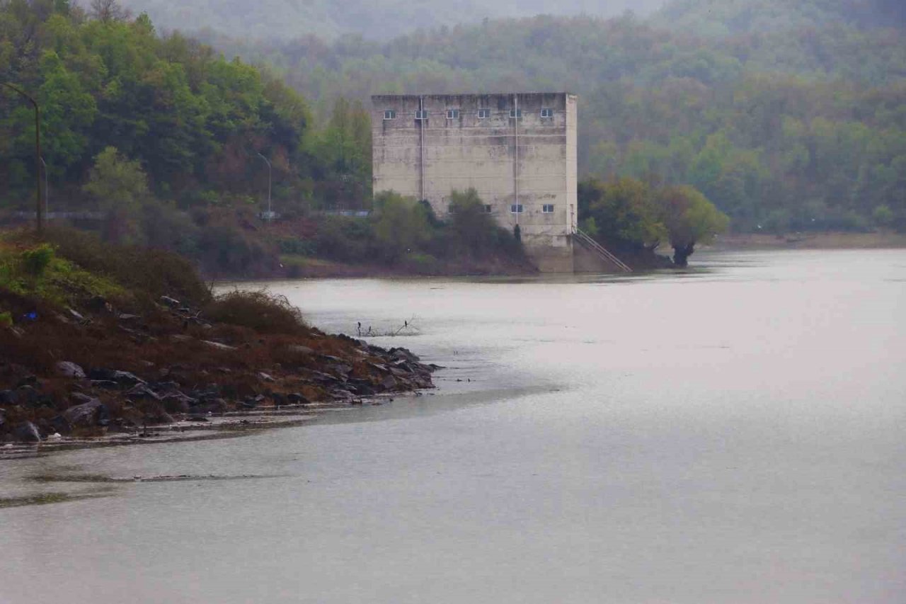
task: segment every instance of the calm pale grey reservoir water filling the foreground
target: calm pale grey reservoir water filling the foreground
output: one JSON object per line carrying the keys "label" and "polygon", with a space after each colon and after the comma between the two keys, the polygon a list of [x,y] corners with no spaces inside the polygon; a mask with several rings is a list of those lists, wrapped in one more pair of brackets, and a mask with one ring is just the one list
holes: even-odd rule
{"label": "calm pale grey reservoir water filling the foreground", "polygon": [[[445,365],[242,438],[0,461],[0,602],[906,602],[906,250],[269,284]],[[44,474],[236,480],[36,483]],[[245,477],[245,478],[239,478]]]}

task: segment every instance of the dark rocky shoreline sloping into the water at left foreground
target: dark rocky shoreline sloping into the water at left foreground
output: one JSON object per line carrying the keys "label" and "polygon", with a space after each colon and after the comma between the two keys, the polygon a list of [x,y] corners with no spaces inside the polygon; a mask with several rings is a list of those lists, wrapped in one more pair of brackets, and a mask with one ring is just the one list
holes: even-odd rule
{"label": "dark rocky shoreline sloping into the water at left foreground", "polygon": [[24,348],[50,346],[49,336],[59,344],[53,362],[33,354],[31,363],[0,363],[6,449],[294,424],[325,407],[432,388],[439,368],[405,348],[311,327],[287,335],[218,323],[172,297],[144,314],[118,312],[103,299],[87,306],[91,312],[34,312],[32,323],[0,328],[6,343]]}

